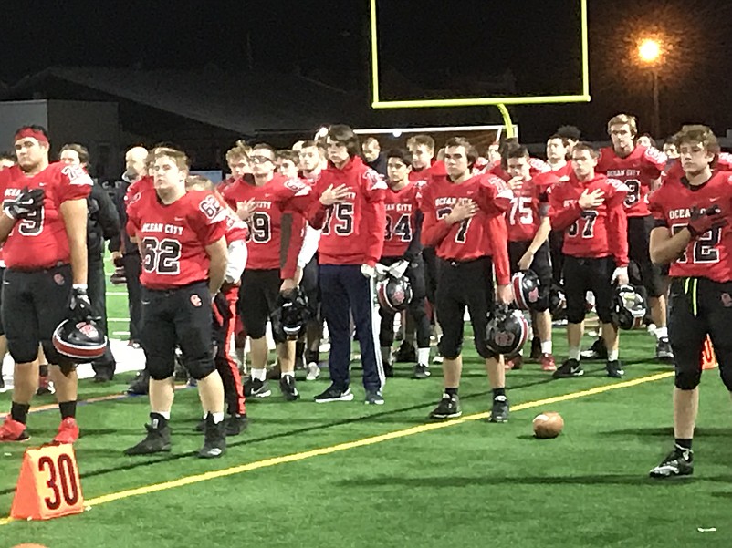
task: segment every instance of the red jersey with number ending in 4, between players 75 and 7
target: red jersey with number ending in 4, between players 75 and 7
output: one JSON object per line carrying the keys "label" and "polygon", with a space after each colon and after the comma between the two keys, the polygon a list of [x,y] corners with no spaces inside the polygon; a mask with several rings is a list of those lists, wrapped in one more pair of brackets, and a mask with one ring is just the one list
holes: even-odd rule
{"label": "red jersey with number ending in 4, between players 75 and 7", "polygon": [[384,229],[384,257],[401,257],[412,243],[416,230],[415,216],[419,210],[420,188],[416,181],[408,182],[403,189],[386,190],[384,209],[386,228]]}

